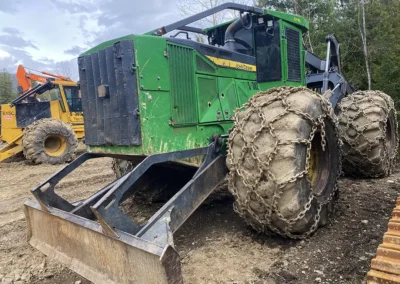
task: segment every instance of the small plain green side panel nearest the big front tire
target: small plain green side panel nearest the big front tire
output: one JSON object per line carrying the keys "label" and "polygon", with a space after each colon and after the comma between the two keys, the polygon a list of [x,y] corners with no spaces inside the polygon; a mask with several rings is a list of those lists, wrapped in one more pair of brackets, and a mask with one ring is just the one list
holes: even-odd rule
{"label": "small plain green side panel nearest the big front tire", "polygon": [[232,78],[218,78],[218,91],[224,120],[233,119],[233,112],[239,104],[235,80]]}

